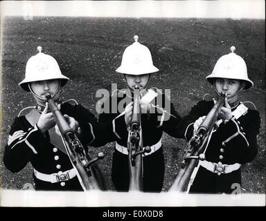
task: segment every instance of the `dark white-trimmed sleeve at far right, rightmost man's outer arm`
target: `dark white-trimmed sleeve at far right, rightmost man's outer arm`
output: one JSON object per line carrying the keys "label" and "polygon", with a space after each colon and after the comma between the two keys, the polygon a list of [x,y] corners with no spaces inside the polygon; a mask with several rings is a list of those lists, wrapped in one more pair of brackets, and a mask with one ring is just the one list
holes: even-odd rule
{"label": "dark white-trimmed sleeve at far right, rightmost man's outer arm", "polygon": [[[221,127],[219,133],[224,134],[222,145],[228,154],[240,164],[251,162],[258,153],[257,135],[260,131],[260,115],[258,111],[252,111],[245,128],[240,121],[231,119]],[[228,148],[227,148],[227,144]]]}

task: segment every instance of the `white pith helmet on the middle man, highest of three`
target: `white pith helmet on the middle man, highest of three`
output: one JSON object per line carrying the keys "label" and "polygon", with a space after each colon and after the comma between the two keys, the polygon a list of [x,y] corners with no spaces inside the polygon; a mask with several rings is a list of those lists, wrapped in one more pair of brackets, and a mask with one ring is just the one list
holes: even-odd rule
{"label": "white pith helmet on the middle man, highest of three", "polygon": [[135,35],[135,42],[131,46],[125,48],[121,66],[116,69],[118,73],[145,75],[159,70],[153,65],[149,48],[140,44],[138,39],[139,37]]}

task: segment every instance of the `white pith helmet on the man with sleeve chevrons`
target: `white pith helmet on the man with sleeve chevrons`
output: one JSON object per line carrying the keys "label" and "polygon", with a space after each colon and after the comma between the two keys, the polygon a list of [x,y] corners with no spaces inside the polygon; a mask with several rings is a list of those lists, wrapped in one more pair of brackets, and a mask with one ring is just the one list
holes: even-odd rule
{"label": "white pith helmet on the man with sleeve chevrons", "polygon": [[50,55],[45,55],[42,52],[42,47],[38,46],[39,51],[37,55],[30,57],[26,64],[26,73],[23,81],[19,86],[26,91],[30,91],[28,83],[33,81],[45,81],[50,79],[60,79],[61,86],[67,84],[69,78],[62,75],[57,61]]}

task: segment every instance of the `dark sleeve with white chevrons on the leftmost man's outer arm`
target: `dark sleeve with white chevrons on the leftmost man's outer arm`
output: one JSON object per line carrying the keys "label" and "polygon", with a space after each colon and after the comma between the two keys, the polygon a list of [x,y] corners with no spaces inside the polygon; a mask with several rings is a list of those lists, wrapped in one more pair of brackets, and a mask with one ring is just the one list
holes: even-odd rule
{"label": "dark sleeve with white chevrons on the leftmost man's outer arm", "polygon": [[19,125],[17,117],[11,126],[8,144],[5,146],[3,155],[3,163],[12,173],[24,169],[30,159],[47,146],[46,138],[36,125],[28,128],[27,131]]}

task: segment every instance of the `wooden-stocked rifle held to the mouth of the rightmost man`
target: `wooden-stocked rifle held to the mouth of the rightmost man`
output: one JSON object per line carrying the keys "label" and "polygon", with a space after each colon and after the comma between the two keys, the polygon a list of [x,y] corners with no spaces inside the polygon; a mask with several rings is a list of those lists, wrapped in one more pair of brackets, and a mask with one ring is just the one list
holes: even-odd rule
{"label": "wooden-stocked rifle held to the mouth of the rightmost man", "polygon": [[197,132],[191,137],[186,148],[184,149],[184,157],[181,162],[181,169],[175,178],[175,182],[169,191],[186,192],[189,191],[188,186],[192,185],[193,171],[199,166],[199,160],[205,160],[205,150],[209,143],[209,136],[215,125],[220,109],[224,105],[225,93],[222,93],[211,111],[206,115],[202,124],[200,124]]}

